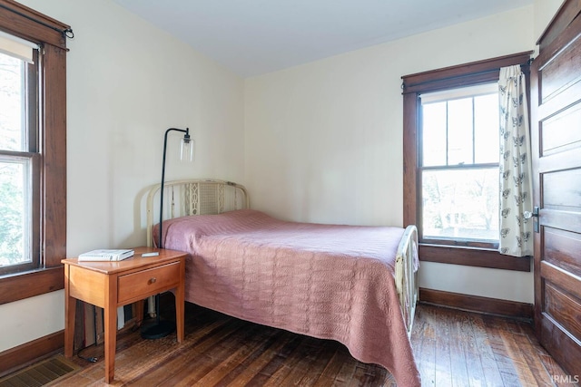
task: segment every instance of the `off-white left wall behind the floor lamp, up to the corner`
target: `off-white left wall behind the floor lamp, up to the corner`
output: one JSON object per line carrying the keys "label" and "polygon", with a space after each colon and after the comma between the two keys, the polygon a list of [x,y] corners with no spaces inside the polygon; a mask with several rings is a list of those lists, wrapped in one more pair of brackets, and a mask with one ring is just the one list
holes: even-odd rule
{"label": "off-white left wall behind the floor lamp, up to the corner", "polygon": [[[167,179],[244,182],[240,77],[110,0],[22,3],[74,30],[67,42],[68,256],[145,244],[143,189],[161,179],[169,127],[190,127],[197,155],[187,166],[172,153]],[[179,135],[170,140],[176,151]],[[0,305],[0,351],[63,329],[63,298],[58,291]]]}

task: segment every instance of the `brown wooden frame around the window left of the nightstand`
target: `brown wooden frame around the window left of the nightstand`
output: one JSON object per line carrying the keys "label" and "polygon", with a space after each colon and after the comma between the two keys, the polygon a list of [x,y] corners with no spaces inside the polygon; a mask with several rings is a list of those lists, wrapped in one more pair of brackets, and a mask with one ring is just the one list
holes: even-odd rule
{"label": "brown wooden frame around the window left of the nightstand", "polygon": [[66,257],[66,33],[70,26],[13,0],[0,0],[0,30],[43,50],[38,102],[40,173],[34,204],[39,266],[0,276],[0,305],[64,288]]}

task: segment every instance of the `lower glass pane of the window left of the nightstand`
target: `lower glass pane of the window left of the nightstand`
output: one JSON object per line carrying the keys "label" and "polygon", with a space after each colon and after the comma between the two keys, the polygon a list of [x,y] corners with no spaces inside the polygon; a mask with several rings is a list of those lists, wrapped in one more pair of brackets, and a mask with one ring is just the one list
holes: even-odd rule
{"label": "lower glass pane of the window left of the nightstand", "polygon": [[31,262],[30,160],[0,158],[0,267]]}

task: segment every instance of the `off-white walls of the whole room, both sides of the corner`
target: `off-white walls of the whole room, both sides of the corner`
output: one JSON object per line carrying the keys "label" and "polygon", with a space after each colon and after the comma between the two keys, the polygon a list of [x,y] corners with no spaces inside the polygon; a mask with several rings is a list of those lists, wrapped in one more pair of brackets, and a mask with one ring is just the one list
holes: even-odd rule
{"label": "off-white walls of the whole room, both sides of the corner", "polygon": [[[160,179],[162,135],[172,126],[191,128],[197,156],[191,169],[170,158],[168,179],[239,181],[254,208],[281,218],[401,225],[400,77],[532,50],[560,5],[536,0],[534,17],[526,7],[244,84],[110,0],[21,2],[75,34],[67,54],[69,256],[144,244],[143,188]],[[424,263],[420,285],[533,300],[531,274]],[[0,315],[0,351],[52,334],[64,327],[63,291],[0,305]]]}

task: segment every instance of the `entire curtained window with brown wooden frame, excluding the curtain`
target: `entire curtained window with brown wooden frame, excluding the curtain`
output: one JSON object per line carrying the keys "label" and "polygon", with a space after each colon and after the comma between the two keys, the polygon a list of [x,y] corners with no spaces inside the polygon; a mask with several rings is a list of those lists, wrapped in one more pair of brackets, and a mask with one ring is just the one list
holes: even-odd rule
{"label": "entire curtained window with brown wooden frame, excluding the curtain", "polygon": [[[404,223],[419,228],[424,261],[529,271],[498,243],[499,69],[529,53],[403,79]],[[494,129],[491,129],[494,128]]]}

